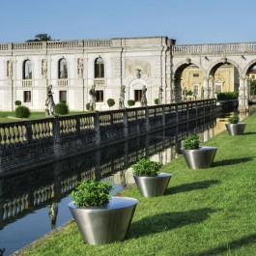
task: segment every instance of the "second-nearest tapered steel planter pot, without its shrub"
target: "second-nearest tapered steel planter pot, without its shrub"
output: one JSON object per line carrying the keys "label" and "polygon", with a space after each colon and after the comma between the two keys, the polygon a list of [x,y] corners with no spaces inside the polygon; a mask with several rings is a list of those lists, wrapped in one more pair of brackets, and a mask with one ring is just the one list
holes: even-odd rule
{"label": "second-nearest tapered steel planter pot, without its shrub", "polygon": [[171,179],[170,173],[159,173],[154,177],[133,176],[140,194],[144,197],[163,195]]}

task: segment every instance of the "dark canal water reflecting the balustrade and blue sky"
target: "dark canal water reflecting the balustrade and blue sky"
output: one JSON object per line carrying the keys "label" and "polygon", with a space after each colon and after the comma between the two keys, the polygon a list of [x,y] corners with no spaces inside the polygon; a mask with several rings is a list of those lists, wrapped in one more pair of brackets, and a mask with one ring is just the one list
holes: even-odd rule
{"label": "dark canal water reflecting the balustrade and blue sky", "polygon": [[0,178],[0,249],[11,255],[71,219],[71,190],[84,179],[111,182],[116,193],[134,183],[130,165],[146,156],[169,163],[187,133],[207,141],[225,129],[228,114],[166,128],[123,143]]}

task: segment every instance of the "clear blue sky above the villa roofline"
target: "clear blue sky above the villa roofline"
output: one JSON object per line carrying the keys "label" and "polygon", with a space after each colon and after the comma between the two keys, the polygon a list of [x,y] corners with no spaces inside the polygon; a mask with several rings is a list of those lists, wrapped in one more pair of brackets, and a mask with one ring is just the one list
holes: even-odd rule
{"label": "clear blue sky above the villa roofline", "polygon": [[256,42],[256,0],[3,0],[0,43],[166,36],[177,44]]}

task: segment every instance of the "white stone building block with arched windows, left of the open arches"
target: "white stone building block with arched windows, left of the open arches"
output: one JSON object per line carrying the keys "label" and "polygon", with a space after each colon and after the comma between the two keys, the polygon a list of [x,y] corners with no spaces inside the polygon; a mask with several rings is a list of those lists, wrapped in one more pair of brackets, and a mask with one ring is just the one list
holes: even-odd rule
{"label": "white stone building block with arched windows, left of the open arches", "polygon": [[44,110],[48,85],[55,103],[67,100],[71,110],[86,109],[92,87],[98,110],[108,109],[108,99],[118,107],[122,85],[126,106],[140,105],[143,87],[148,104],[160,86],[166,102],[172,43],[166,37],[0,43],[0,110],[14,110],[15,100]]}

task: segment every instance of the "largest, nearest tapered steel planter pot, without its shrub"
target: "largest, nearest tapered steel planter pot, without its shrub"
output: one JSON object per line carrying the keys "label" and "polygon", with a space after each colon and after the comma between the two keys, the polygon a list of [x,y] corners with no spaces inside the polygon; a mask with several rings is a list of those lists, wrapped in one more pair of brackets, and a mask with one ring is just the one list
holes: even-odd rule
{"label": "largest, nearest tapered steel planter pot, without its shrub", "polygon": [[96,207],[69,204],[83,241],[93,245],[123,241],[138,200],[113,196],[109,203]]}

